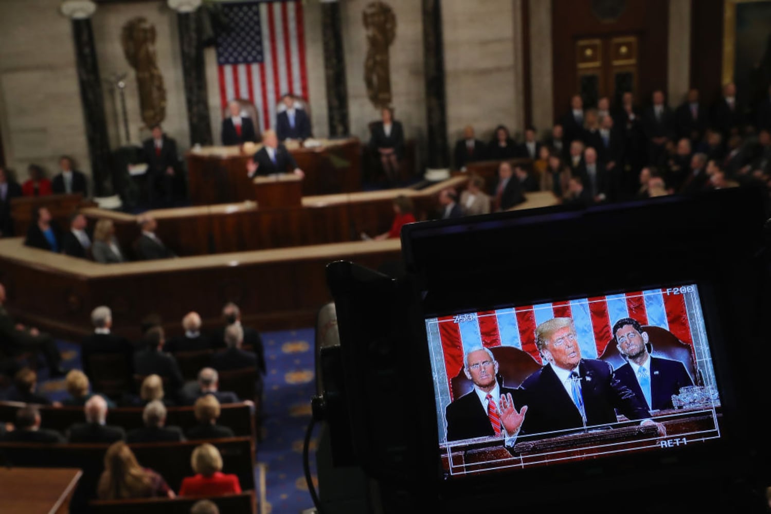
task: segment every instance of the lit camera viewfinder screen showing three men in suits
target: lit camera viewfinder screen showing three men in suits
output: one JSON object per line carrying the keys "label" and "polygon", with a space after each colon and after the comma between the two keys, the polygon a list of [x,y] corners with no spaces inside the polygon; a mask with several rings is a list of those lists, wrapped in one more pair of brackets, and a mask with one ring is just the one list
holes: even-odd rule
{"label": "lit camera viewfinder screen showing three men in suits", "polygon": [[426,319],[445,478],[720,438],[695,284]]}

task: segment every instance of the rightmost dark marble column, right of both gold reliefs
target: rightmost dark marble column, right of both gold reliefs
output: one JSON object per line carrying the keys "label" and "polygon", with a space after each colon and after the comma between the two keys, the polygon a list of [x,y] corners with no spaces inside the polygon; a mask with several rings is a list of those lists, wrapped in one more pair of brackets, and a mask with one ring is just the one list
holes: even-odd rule
{"label": "rightmost dark marble column, right of both gold reliefs", "polygon": [[423,0],[423,59],[426,69],[426,127],[429,170],[449,168],[441,0]]}

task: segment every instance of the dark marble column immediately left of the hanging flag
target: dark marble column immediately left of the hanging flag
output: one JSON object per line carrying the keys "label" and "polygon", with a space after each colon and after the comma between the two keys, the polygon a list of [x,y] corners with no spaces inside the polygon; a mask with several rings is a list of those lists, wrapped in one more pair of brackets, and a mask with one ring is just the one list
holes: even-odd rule
{"label": "dark marble column immediately left of the hanging flag", "polygon": [[209,119],[204,45],[200,38],[201,20],[198,8],[201,0],[168,0],[168,3],[170,8],[177,11],[190,146],[209,146],[213,144],[214,138],[211,136]]}

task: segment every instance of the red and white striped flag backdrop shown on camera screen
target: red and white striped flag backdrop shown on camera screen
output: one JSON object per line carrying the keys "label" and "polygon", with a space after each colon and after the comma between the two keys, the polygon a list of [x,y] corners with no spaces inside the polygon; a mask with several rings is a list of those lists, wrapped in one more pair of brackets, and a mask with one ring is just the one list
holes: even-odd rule
{"label": "red and white striped flag backdrop shown on camera screen", "polygon": [[[449,385],[463,368],[464,349],[513,346],[527,351],[537,362],[544,364],[536,348],[535,328],[553,317],[573,318],[581,356],[598,358],[613,337],[613,324],[624,317],[631,317],[641,325],[665,328],[693,347],[692,330],[696,326],[691,317],[694,315],[689,313],[685,295],[655,289],[477,312],[457,323],[454,316],[427,322],[439,325],[441,349],[437,350],[444,355]],[[452,395],[452,387],[449,391]]]}

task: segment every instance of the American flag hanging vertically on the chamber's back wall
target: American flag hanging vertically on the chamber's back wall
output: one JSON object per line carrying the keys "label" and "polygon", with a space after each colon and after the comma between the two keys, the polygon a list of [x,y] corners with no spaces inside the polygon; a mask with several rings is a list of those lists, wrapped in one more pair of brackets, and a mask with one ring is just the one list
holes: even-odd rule
{"label": "American flag hanging vertically on the chamber's back wall", "polygon": [[248,99],[258,109],[255,128],[271,128],[284,93],[308,99],[301,2],[224,2],[230,31],[217,37],[222,108]]}

